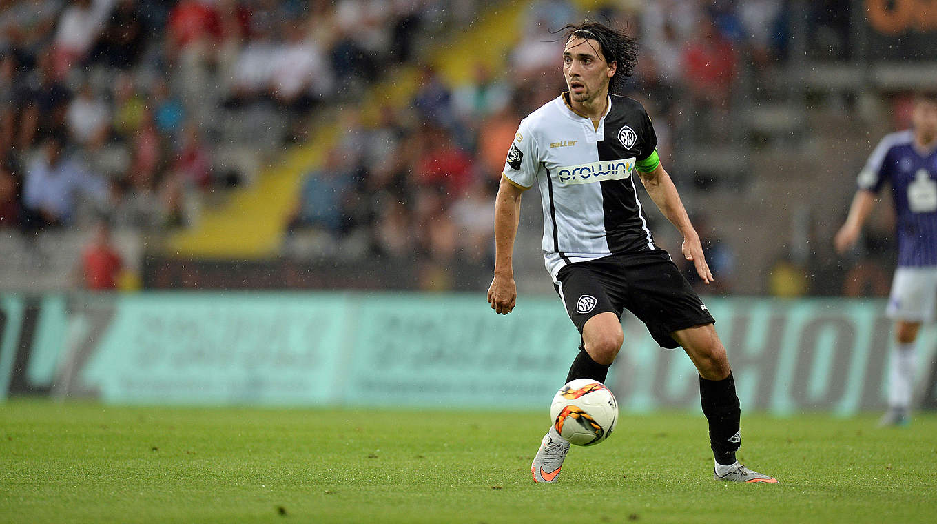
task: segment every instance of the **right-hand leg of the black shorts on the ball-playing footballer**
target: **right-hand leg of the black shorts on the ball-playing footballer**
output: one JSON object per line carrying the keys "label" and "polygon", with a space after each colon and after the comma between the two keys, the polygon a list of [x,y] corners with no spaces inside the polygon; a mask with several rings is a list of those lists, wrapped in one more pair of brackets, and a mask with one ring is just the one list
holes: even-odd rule
{"label": "right-hand leg of the black shorts on the ball-playing footballer", "polygon": [[625,305],[663,348],[677,348],[675,331],[716,322],[664,251],[642,253],[628,270]]}

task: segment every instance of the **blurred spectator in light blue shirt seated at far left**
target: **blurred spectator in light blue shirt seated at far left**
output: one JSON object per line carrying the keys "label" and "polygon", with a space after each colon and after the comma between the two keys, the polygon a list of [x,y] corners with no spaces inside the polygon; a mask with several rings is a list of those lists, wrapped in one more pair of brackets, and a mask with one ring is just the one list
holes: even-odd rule
{"label": "blurred spectator in light blue shirt seated at far left", "polygon": [[63,139],[52,135],[42,144],[42,155],[26,171],[23,202],[33,227],[71,223],[81,199],[105,207],[108,187],[94,173],[87,172],[74,157],[63,152]]}

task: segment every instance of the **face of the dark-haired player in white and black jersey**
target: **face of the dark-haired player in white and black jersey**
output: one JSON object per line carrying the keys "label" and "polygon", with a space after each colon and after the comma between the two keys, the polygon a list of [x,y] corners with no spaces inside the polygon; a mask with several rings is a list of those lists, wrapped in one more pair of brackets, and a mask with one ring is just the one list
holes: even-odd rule
{"label": "face of the dark-haired player in white and black jersey", "polygon": [[608,93],[608,81],[615,76],[617,64],[609,65],[602,47],[592,39],[572,37],[563,50],[563,77],[575,102],[588,102]]}

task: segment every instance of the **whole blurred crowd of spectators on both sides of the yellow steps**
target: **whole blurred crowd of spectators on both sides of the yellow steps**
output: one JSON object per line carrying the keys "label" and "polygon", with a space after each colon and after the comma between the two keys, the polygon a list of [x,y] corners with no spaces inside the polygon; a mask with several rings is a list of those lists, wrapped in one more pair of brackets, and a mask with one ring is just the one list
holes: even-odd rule
{"label": "whole blurred crowd of spectators on both sides of the yellow steps", "polygon": [[[0,0],[0,228],[185,227],[338,108],[340,139],[305,175],[284,252],[416,259],[424,287],[451,289],[447,268],[490,268],[507,148],[520,119],[564,90],[559,30],[585,16],[533,2],[503,63],[450,84],[424,50],[495,4]],[[671,158],[675,144],[724,140],[740,72],[769,74],[788,55],[789,9],[630,0],[588,16],[639,38],[626,94]],[[361,97],[402,65],[421,70],[409,103],[365,118]],[[731,248],[701,235],[731,275]]]}

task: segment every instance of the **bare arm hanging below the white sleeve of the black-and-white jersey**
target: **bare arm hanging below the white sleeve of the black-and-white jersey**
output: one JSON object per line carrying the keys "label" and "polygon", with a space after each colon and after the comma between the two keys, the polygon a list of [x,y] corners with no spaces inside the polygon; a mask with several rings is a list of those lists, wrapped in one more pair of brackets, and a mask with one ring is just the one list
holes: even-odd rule
{"label": "bare arm hanging below the white sleeve of the black-and-white jersey", "polygon": [[488,288],[488,303],[496,313],[507,315],[517,303],[513,250],[521,215],[521,187],[501,176],[495,200],[495,277]]}

